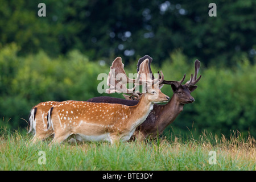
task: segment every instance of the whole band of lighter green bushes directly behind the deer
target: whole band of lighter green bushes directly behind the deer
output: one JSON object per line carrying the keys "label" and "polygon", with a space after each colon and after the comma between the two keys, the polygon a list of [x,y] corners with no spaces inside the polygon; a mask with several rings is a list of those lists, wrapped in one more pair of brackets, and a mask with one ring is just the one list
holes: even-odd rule
{"label": "whole band of lighter green bushes directly behind the deer", "polygon": [[[18,47],[10,44],[0,51],[0,117],[11,129],[26,127],[20,118],[28,119],[32,106],[43,101],[88,100],[102,96],[97,92],[100,73],[108,73],[110,65],[93,62],[78,51],[50,59],[43,51],[25,57],[17,56]],[[139,58],[139,57],[138,57]],[[174,51],[162,68],[156,67],[153,59],[152,71],[162,70],[166,80],[181,80],[184,73],[194,72],[195,60],[188,59],[181,51]],[[126,73],[135,73],[137,61],[125,65]],[[193,104],[184,106],[183,112],[166,130],[181,133],[196,129],[216,134],[230,134],[238,129],[256,136],[255,108],[256,66],[245,58],[230,68],[205,68],[198,88],[192,93]],[[184,81],[184,82],[185,82]],[[162,92],[172,96],[170,85]],[[111,94],[122,97],[122,94]],[[10,119],[11,118],[11,119]],[[189,130],[188,130],[189,129]]]}

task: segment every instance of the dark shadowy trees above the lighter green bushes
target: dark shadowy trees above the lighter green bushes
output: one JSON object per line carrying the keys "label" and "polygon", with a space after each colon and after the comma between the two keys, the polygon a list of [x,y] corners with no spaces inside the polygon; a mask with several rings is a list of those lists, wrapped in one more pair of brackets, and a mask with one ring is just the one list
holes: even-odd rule
{"label": "dark shadowy trees above the lighter green bushes", "polygon": [[15,42],[19,55],[43,49],[53,57],[78,49],[109,63],[148,54],[161,65],[177,48],[205,65],[255,57],[254,0],[214,1],[217,17],[208,15],[212,1],[46,0],[46,17],[37,14],[40,2],[0,0],[2,46]]}

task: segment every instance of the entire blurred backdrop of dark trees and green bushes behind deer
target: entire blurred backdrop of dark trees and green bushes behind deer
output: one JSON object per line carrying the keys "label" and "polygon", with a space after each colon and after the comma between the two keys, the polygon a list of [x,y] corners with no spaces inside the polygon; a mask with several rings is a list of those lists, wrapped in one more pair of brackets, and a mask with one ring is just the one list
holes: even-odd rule
{"label": "entire blurred backdrop of dark trees and green bushes behind deer", "polygon": [[[38,4],[46,4],[46,17]],[[209,3],[217,5],[210,17]],[[127,73],[153,58],[167,80],[193,73],[193,104],[166,130],[186,135],[238,130],[256,137],[256,2],[0,0],[0,126],[24,129],[32,106],[99,94],[100,73],[121,56]],[[186,80],[189,79],[188,77]],[[172,96],[171,86],[162,92]],[[122,94],[111,94],[122,98]]]}

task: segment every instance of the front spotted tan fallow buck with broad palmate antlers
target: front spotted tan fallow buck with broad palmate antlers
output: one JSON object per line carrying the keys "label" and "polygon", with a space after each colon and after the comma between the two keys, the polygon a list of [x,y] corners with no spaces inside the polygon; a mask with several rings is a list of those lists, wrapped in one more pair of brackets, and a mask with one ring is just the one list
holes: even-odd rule
{"label": "front spotted tan fallow buck with broad palmate antlers", "polygon": [[[117,71],[125,73],[122,66],[121,57],[117,57],[110,67],[109,78],[113,77],[111,69],[115,65]],[[136,127],[147,118],[147,115],[152,110],[154,102],[167,102],[170,98],[163,94],[158,88],[159,83],[163,81],[156,78],[151,80],[146,76],[146,79],[141,77],[142,74],[148,75],[148,60],[144,60],[140,65],[141,71],[138,73],[136,80],[140,80],[139,84],[146,83],[146,93],[142,94],[141,100],[135,106],[126,106],[121,104],[108,104],[84,101],[64,101],[51,107],[48,114],[48,124],[55,131],[55,137],[50,143],[61,143],[70,135],[79,135],[82,140],[99,141],[105,140],[112,144],[119,140],[129,140],[133,135]],[[126,75],[125,75],[126,76]],[[127,76],[126,76],[127,77]],[[122,79],[123,80],[123,79]],[[125,80],[125,79],[124,79]],[[111,89],[118,92],[128,90],[125,83],[119,88],[110,84]],[[121,82],[121,81],[120,81]],[[134,81],[133,81],[134,82]],[[134,94],[135,87],[128,90],[128,93]]]}

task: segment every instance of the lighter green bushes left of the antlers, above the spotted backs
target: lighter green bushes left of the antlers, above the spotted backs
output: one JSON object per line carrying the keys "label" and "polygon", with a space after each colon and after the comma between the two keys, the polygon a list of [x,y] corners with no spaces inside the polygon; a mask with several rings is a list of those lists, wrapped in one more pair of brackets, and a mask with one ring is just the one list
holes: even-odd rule
{"label": "lighter green bushes left of the antlers, above the spotted backs", "polygon": [[[18,57],[18,47],[11,44],[0,51],[0,117],[10,125],[27,126],[32,106],[43,101],[88,100],[100,96],[97,80],[109,68],[93,63],[78,51],[50,59],[46,53]],[[5,120],[6,120],[5,119]]]}

